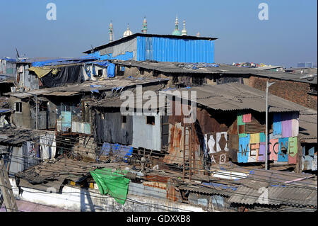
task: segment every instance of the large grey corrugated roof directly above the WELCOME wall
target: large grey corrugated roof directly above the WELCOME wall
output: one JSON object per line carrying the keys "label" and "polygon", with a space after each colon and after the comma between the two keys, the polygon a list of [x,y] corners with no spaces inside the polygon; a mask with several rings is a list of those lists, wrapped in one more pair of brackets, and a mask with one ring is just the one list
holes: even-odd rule
{"label": "large grey corrugated roof directly above the WELCOME wall", "polygon": [[[178,91],[196,91],[196,103],[223,111],[252,109],[266,111],[266,93],[239,83],[193,86]],[[269,112],[304,111],[306,108],[269,94]]]}

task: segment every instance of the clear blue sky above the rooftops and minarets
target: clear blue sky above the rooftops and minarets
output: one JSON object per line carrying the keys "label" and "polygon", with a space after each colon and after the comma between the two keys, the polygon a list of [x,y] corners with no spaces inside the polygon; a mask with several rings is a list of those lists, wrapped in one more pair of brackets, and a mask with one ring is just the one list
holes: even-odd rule
{"label": "clear blue sky above the rooftops and minarets", "polygon": [[[47,4],[57,6],[57,20],[47,20]],[[269,6],[259,20],[259,4]],[[0,0],[0,57],[78,57],[122,38],[129,23],[141,33],[171,34],[186,20],[188,35],[218,38],[216,63],[254,62],[296,67],[317,64],[317,0]]]}

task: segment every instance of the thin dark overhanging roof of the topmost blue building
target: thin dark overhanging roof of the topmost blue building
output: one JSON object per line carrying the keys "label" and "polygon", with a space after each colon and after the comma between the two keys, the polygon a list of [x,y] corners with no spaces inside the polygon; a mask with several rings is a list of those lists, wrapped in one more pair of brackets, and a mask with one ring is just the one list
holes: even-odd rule
{"label": "thin dark overhanging roof of the topmost blue building", "polygon": [[[108,43],[105,45],[100,45],[98,47],[95,47],[93,49],[93,52],[96,52],[98,50],[102,50],[105,47],[110,47],[113,45],[117,45],[119,43],[124,43],[126,41],[129,41],[131,39],[136,38],[137,36],[142,36],[142,37],[159,37],[159,38],[175,38],[175,39],[185,39],[185,40],[216,40],[218,38],[208,38],[208,37],[196,37],[196,36],[188,36],[188,35],[184,35],[184,36],[177,36],[177,35],[155,35],[155,34],[143,34],[143,33],[135,33],[133,35],[129,35],[127,37],[121,38],[119,40],[115,40],[112,43]],[[92,50],[87,50],[83,53],[90,53]]]}

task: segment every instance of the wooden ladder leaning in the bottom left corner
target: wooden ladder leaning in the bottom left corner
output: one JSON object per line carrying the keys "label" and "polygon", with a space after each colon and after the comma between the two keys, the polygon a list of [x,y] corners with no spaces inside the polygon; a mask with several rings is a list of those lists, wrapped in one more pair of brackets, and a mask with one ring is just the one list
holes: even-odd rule
{"label": "wooden ladder leaning in the bottom left corner", "polygon": [[6,171],[6,165],[4,159],[0,155],[0,187],[1,193],[4,197],[4,205],[6,205],[7,212],[18,212],[18,206],[16,205],[16,199],[13,196],[11,183],[8,179],[8,172]]}

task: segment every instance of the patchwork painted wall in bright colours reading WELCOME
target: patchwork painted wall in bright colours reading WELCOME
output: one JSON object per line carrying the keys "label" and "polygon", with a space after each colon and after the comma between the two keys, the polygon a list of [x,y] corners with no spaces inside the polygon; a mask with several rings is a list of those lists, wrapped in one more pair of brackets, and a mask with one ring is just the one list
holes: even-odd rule
{"label": "patchwork painted wall in bright colours reading WELCOME", "polygon": [[[250,123],[253,119],[251,113],[237,114],[239,135],[237,162],[265,161],[265,131],[252,133],[251,131],[257,130],[257,128],[251,129]],[[299,113],[273,113],[272,121],[272,128],[269,130],[269,160],[296,164]]]}

